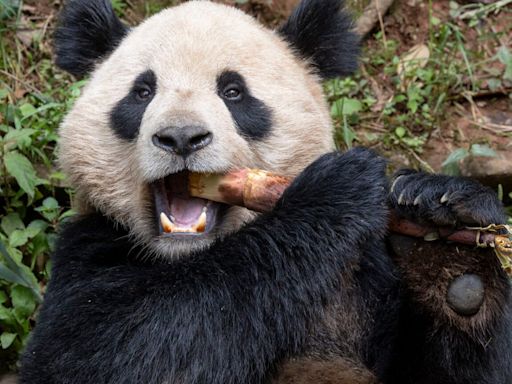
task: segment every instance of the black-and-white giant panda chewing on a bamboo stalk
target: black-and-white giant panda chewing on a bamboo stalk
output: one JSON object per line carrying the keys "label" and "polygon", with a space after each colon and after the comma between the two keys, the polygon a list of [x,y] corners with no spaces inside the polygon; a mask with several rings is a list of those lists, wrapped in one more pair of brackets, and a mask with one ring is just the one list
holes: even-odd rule
{"label": "black-and-white giant panda chewing on a bamboo stalk", "polygon": [[[388,182],[372,151],[335,151],[322,80],[356,69],[351,28],[341,0],[303,0],[277,31],[208,1],[133,28],[107,0],[66,3],[57,65],[90,74],[60,127],[79,215],[22,383],[509,382],[510,287],[492,254],[386,230],[390,206],[455,228],[502,223],[501,204],[465,179]],[[295,180],[260,215],[183,192],[187,172],[242,167]]]}

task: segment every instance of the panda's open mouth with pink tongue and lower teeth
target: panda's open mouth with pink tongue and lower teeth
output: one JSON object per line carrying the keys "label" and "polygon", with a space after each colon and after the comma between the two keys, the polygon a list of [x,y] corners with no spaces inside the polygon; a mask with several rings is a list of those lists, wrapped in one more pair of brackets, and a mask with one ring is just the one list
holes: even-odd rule
{"label": "panda's open mouth with pink tongue and lower teeth", "polygon": [[152,189],[162,236],[206,235],[216,227],[225,208],[220,203],[191,197],[187,171],[154,182]]}

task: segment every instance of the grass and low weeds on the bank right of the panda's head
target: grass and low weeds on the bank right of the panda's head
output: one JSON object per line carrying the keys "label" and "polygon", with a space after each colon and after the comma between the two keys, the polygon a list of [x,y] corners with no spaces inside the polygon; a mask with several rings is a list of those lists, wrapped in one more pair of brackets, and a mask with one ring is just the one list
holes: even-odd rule
{"label": "grass and low weeds on the bank right of the panda's head", "polygon": [[[455,2],[450,7],[438,17],[430,4],[428,31],[414,46],[376,33],[365,48],[362,70],[351,79],[327,84],[342,146],[358,143],[384,153],[400,152],[411,165],[432,170],[421,158],[424,146],[433,131],[446,126],[446,116],[456,105],[475,106],[475,100],[498,90],[512,94],[511,48],[504,43],[510,44],[507,36],[512,27],[495,32],[492,22],[484,19],[482,23],[489,13],[510,15],[510,9],[474,4],[462,7]],[[473,12],[470,15],[469,9]],[[475,35],[478,43],[468,43]],[[487,45],[489,51],[482,51]],[[344,108],[340,108],[342,103]],[[505,139],[511,137],[509,132],[495,133]],[[466,153],[471,155],[473,144],[486,146],[485,140],[482,137],[480,142],[470,143]],[[445,171],[458,170],[449,167]]]}

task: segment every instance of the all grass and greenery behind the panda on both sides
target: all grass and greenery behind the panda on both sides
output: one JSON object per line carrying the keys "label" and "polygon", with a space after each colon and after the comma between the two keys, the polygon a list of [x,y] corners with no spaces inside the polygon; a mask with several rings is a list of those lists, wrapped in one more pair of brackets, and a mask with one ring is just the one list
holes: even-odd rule
{"label": "all grass and greenery behind the panda on both sides", "polygon": [[[361,12],[368,0],[353,2]],[[136,21],[172,3],[115,0],[114,6]],[[73,192],[55,168],[56,128],[84,81],[53,66],[53,14],[41,17],[37,4],[27,0],[23,9],[20,1],[0,0],[0,373],[16,369],[50,278],[55,232],[73,213]],[[341,148],[370,146],[398,156],[401,165],[439,169],[427,147],[447,127],[446,116],[471,110],[473,128],[480,129],[488,124],[477,121],[480,101],[487,95],[507,100],[512,27],[496,31],[495,21],[510,16],[508,2],[464,7],[450,2],[441,13],[435,5],[427,6],[427,24],[413,42],[404,39],[398,18],[386,19],[391,20],[386,30],[365,44],[361,70],[325,84]],[[460,161],[470,156],[495,156],[491,136],[510,140],[498,126],[482,132],[477,140],[459,140],[462,134],[451,139],[445,172],[459,172]],[[504,198],[509,193],[501,190]]]}

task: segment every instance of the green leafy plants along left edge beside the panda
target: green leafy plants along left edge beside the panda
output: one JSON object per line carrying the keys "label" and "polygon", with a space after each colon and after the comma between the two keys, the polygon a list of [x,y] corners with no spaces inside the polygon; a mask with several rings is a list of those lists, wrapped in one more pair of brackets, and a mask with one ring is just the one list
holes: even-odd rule
{"label": "green leafy plants along left edge beside the panda", "polygon": [[16,38],[18,16],[0,20],[10,37],[0,40],[0,374],[15,368],[49,278],[55,232],[72,214],[71,191],[55,169],[56,128],[84,85],[69,85],[41,41]]}

